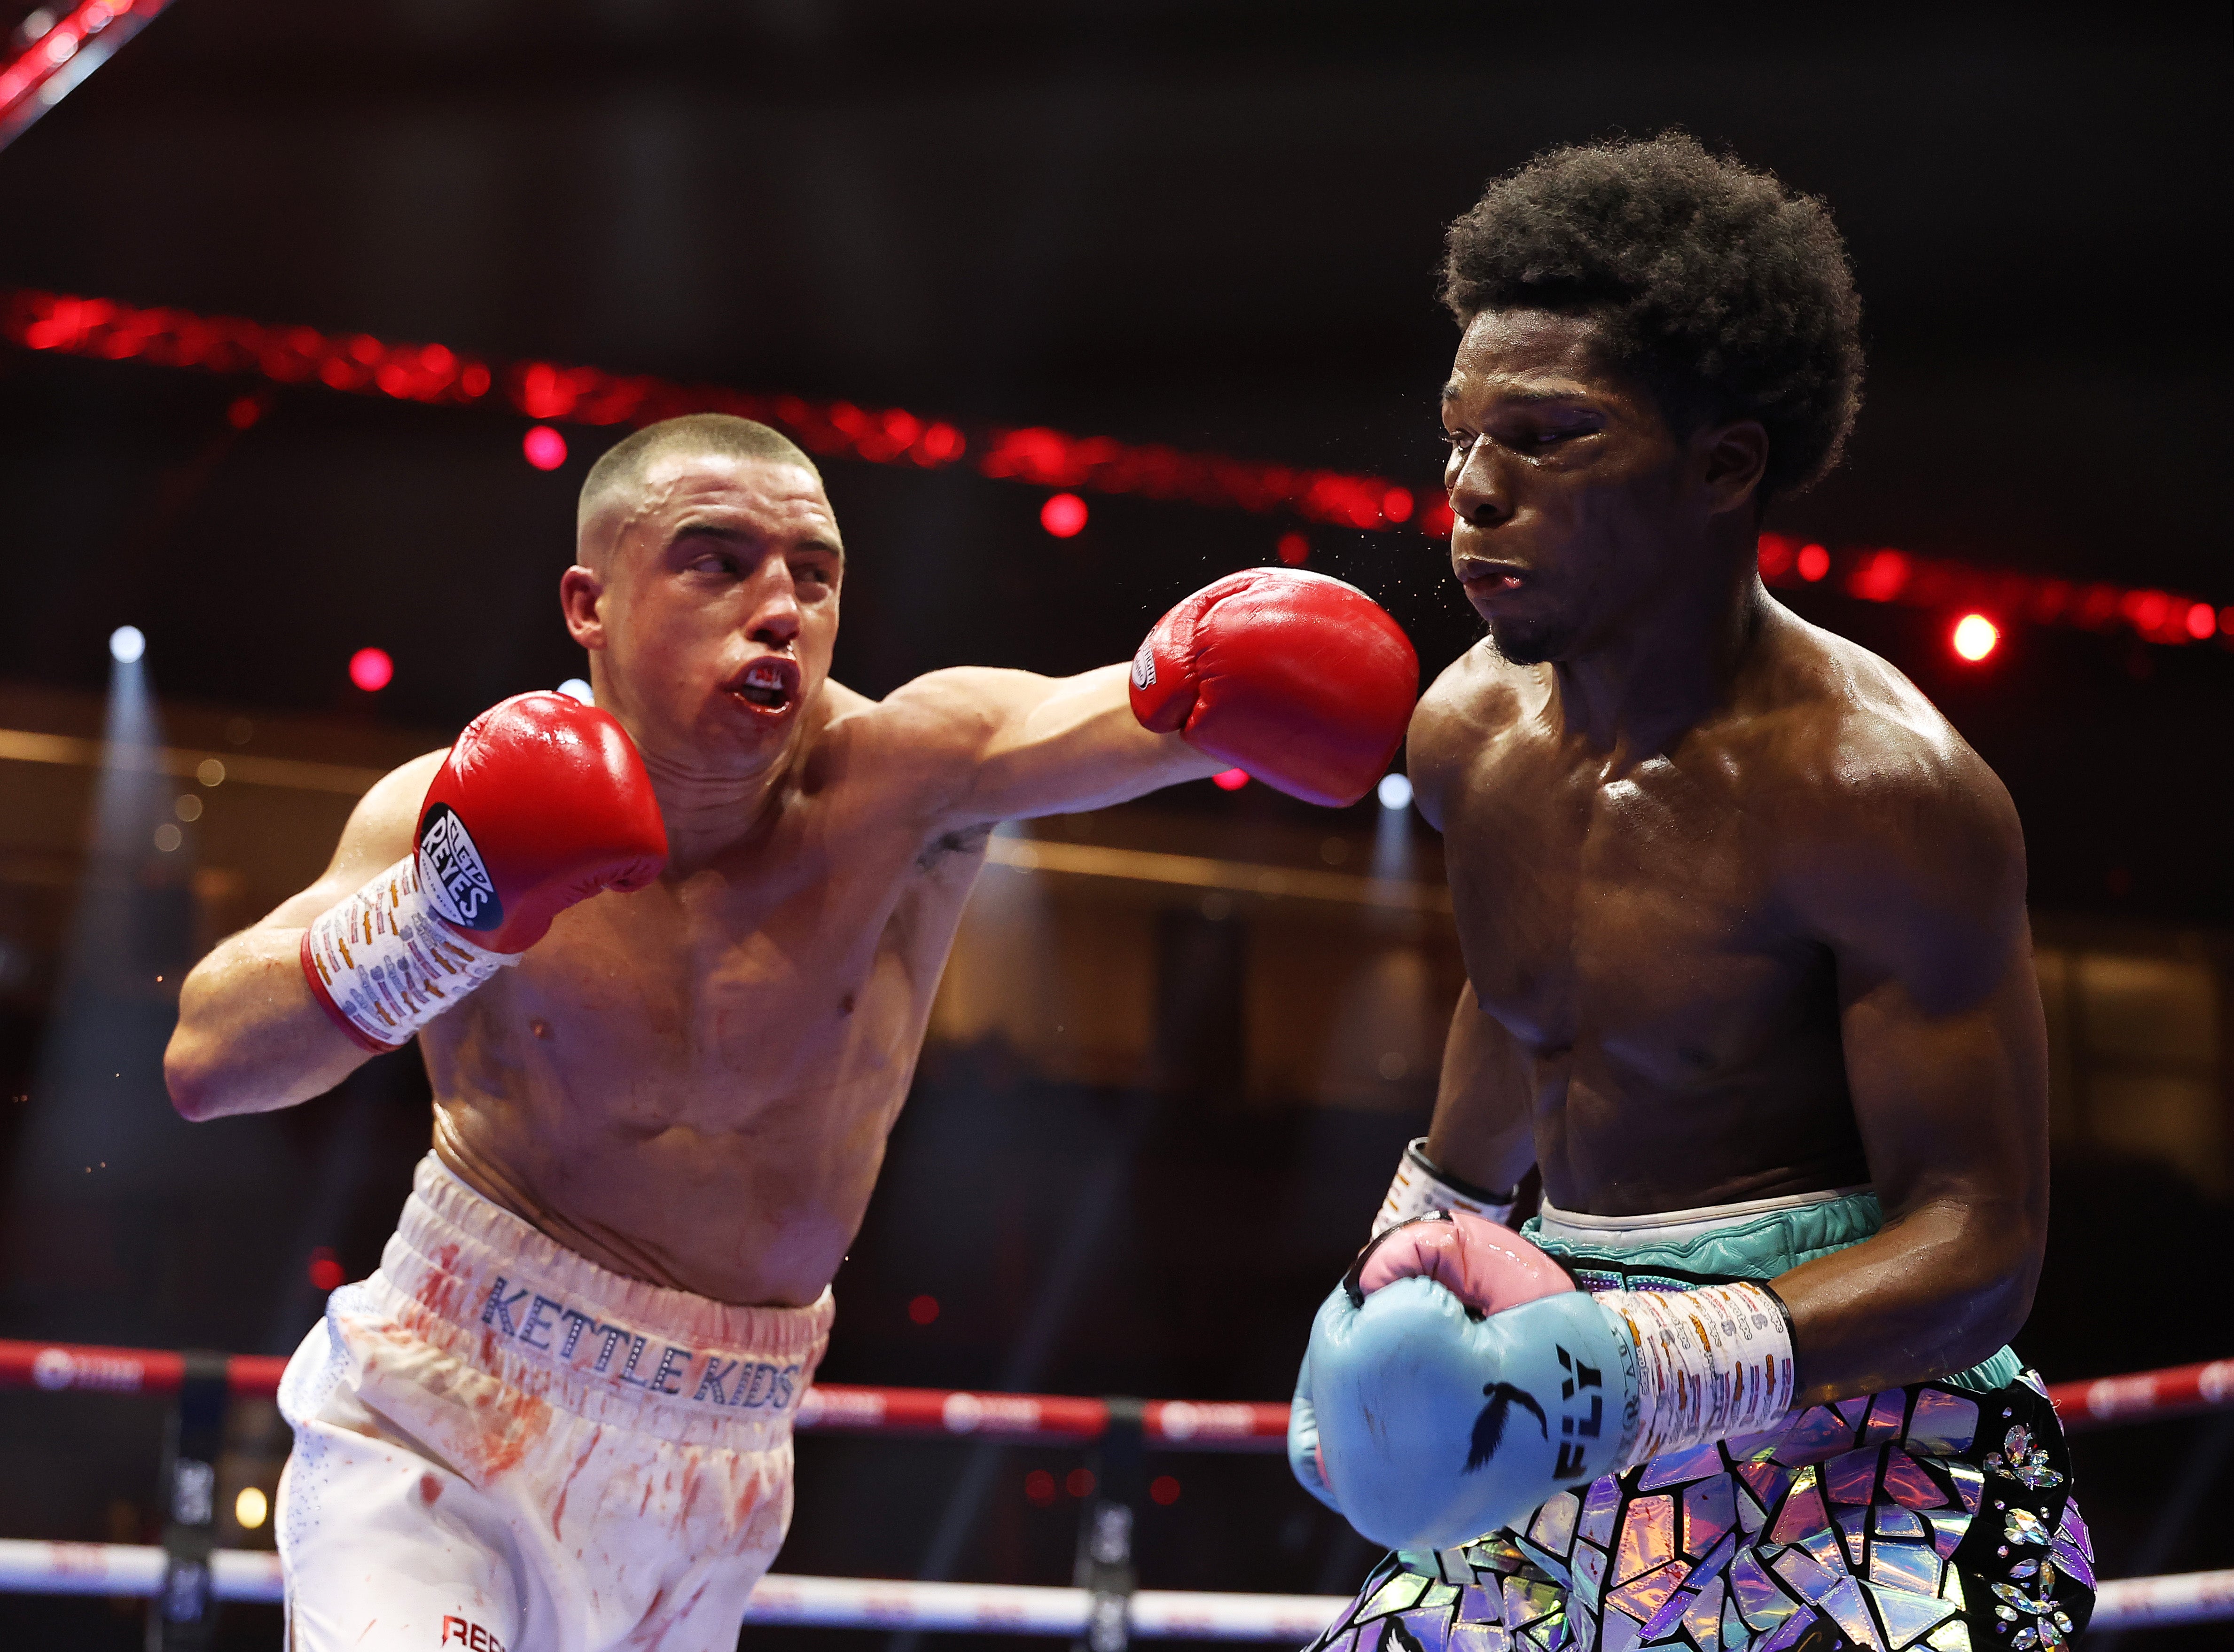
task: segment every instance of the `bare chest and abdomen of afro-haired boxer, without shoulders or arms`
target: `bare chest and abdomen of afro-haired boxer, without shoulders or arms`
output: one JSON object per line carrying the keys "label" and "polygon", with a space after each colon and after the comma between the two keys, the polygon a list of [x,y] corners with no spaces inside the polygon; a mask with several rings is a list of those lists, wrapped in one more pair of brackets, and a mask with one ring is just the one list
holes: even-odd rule
{"label": "bare chest and abdomen of afro-haired boxer, without shoulders or arms", "polygon": [[1575,787],[1512,767],[1445,825],[1550,1200],[1633,1216],[1868,1183],[1836,970],[1780,932],[1758,825],[1687,765]]}

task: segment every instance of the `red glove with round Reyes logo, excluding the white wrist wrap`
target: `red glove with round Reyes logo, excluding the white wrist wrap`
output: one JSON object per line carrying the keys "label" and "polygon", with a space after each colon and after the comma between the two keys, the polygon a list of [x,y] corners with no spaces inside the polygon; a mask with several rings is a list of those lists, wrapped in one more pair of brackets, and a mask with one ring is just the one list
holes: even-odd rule
{"label": "red glove with round Reyes logo, excluding the white wrist wrap", "polygon": [[442,919],[491,952],[525,952],[576,901],[652,883],[668,827],[610,713],[523,693],[465,724],[420,805],[418,852]]}

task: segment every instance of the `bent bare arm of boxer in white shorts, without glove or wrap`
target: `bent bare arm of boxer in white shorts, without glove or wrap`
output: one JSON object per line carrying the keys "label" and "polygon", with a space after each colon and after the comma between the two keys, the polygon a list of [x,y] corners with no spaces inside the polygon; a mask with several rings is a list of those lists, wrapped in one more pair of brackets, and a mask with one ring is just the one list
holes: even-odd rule
{"label": "bent bare arm of boxer in white shorts, without glove or wrap", "polygon": [[170,1100],[185,1118],[268,1113],[324,1095],[369,1055],[311,997],[302,934],[311,921],[411,852],[411,829],[442,753],[382,778],[349,816],[333,863],[261,923],[219,941],[179,990],[163,1051]]}

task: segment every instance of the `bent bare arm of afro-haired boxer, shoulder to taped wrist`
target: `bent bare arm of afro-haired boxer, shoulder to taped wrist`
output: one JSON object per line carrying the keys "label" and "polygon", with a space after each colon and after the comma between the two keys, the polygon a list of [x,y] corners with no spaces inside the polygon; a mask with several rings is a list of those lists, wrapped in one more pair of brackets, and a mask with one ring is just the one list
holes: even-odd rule
{"label": "bent bare arm of afro-haired boxer, shoulder to taped wrist", "polygon": [[1968,749],[1845,798],[1794,901],[1839,963],[1854,1118],[1885,1227],[1774,1281],[1803,1399],[1939,1377],[2033,1306],[2049,1221],[2046,1024],[2024,838]]}

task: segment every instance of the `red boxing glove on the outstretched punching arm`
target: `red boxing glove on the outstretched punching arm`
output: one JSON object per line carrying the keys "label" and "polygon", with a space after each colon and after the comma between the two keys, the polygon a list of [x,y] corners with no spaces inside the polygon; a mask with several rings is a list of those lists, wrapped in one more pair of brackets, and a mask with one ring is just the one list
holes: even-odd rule
{"label": "red boxing glove on the outstretched punching arm", "polygon": [[1387,771],[1419,700],[1410,637],[1356,586],[1249,568],[1164,615],[1133,659],[1144,729],[1291,798],[1349,805]]}

